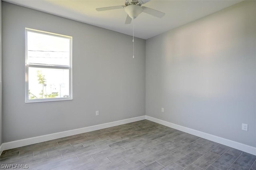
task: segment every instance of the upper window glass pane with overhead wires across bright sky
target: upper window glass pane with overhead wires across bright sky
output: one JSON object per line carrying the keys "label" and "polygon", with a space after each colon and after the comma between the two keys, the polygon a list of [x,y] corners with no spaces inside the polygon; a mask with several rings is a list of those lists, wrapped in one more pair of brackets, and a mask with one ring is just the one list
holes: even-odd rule
{"label": "upper window glass pane with overhead wires across bright sky", "polygon": [[70,65],[70,39],[27,32],[28,63]]}

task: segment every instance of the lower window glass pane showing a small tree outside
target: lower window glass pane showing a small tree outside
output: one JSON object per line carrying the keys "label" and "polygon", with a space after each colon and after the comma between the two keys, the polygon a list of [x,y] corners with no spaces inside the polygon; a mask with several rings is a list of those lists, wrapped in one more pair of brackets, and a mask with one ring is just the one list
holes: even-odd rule
{"label": "lower window glass pane showing a small tree outside", "polygon": [[28,68],[28,99],[69,97],[69,69]]}

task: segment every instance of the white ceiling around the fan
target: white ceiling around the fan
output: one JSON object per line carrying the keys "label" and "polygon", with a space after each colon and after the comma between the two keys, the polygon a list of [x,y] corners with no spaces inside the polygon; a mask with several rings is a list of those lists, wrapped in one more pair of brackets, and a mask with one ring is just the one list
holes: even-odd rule
{"label": "white ceiling around the fan", "polygon": [[[132,24],[125,25],[124,9],[98,12],[95,8],[124,5],[124,0],[4,0],[20,6],[132,35]],[[142,13],[134,20],[134,36],[148,39],[192,22],[242,0],[151,0],[142,6],[165,13],[156,18]]]}

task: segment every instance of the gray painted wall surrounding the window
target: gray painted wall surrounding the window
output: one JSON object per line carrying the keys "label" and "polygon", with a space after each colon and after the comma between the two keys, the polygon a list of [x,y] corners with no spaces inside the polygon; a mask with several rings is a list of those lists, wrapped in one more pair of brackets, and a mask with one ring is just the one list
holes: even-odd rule
{"label": "gray painted wall surrounding the window", "polygon": [[[145,40],[2,3],[3,142],[145,115]],[[25,103],[25,27],[73,37],[73,100]],[[100,116],[95,116],[95,111]]]}

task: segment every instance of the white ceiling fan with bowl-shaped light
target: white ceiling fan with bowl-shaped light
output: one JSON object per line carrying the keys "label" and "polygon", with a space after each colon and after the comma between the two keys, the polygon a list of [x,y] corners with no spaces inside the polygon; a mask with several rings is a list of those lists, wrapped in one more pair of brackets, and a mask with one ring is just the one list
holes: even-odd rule
{"label": "white ceiling fan with bowl-shaped light", "polygon": [[150,0],[125,0],[125,6],[109,6],[104,8],[96,8],[97,11],[106,11],[106,10],[116,10],[124,9],[127,13],[125,24],[130,24],[133,19],[137,18],[138,15],[142,12],[150,14],[152,16],[162,18],[165,13],[158,10],[148,8],[146,6],[141,6]]}

